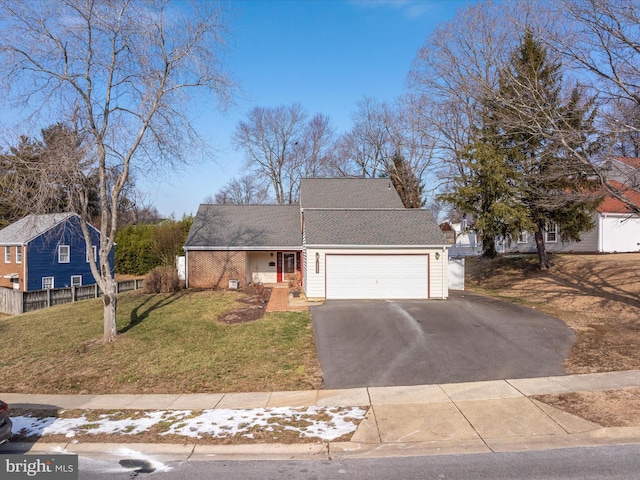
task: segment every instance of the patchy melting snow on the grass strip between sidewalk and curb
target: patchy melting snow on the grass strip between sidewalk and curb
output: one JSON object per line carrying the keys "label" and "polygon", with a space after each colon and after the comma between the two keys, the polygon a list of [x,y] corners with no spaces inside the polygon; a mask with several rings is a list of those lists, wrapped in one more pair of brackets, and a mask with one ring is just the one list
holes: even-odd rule
{"label": "patchy melting snow on the grass strip between sidewalk and curb", "polygon": [[[191,438],[252,438],[256,431],[284,429],[301,437],[331,441],[356,430],[366,410],[359,407],[281,407],[245,410],[214,409],[123,412],[73,418],[31,416],[12,417],[13,433],[26,437],[64,435],[135,435],[160,425],[161,435]],[[62,412],[64,417],[64,412]]]}

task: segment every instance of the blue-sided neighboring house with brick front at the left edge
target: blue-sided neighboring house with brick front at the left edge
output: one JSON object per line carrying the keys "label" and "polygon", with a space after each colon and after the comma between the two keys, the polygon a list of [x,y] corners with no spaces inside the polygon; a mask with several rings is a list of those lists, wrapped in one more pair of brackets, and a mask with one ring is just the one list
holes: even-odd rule
{"label": "blue-sided neighboring house with brick front at the left edge", "polygon": [[[0,230],[0,287],[21,291],[95,284],[89,256],[97,259],[100,232],[89,225],[87,252],[76,213],[28,215]],[[109,253],[113,273],[113,250]]]}

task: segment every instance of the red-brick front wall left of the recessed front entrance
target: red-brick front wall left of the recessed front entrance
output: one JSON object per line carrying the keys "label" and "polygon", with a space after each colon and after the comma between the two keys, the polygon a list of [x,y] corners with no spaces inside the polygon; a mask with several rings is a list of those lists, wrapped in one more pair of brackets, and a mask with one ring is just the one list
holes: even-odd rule
{"label": "red-brick front wall left of the recessed front entrance", "polygon": [[228,288],[229,280],[247,281],[247,252],[190,251],[187,271],[191,288]]}

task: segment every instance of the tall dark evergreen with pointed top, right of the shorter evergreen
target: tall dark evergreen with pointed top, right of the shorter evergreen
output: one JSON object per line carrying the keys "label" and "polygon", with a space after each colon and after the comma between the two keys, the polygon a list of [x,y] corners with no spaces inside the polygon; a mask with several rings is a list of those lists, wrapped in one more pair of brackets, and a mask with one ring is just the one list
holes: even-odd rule
{"label": "tall dark evergreen with pointed top, right of the shorter evergreen", "polygon": [[593,169],[579,158],[593,154],[598,145],[592,138],[593,99],[583,99],[575,87],[564,100],[561,67],[527,30],[501,72],[490,107],[501,148],[521,178],[520,202],[534,233],[540,268],[550,266],[547,229],[556,225],[562,241],[579,241],[581,233],[594,227],[592,214],[600,201]]}

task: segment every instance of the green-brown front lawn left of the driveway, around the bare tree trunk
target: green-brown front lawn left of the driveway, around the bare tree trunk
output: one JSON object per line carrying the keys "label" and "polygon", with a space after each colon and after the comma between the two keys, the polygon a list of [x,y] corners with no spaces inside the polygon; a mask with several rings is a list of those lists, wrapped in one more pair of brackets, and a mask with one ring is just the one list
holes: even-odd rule
{"label": "green-brown front lawn left of the driveway, around the bare tree trunk", "polygon": [[102,302],[90,300],[0,318],[0,391],[193,393],[320,387],[308,313],[240,324],[219,315],[241,293],[132,292],[118,298],[118,329],[101,343]]}

